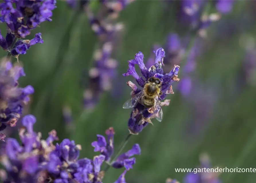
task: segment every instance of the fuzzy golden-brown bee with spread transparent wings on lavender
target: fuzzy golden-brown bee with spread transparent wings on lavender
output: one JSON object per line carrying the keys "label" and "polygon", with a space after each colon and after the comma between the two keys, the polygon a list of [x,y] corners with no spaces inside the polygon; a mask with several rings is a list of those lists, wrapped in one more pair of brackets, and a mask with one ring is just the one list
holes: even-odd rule
{"label": "fuzzy golden-brown bee with spread transparent wings on lavender", "polygon": [[[155,117],[159,122],[163,119],[163,111],[160,105],[161,92],[161,80],[157,77],[150,77],[144,84],[144,88],[138,94],[136,94],[131,99],[127,100],[123,108],[130,109],[134,108],[137,103],[142,104],[146,108],[153,108],[153,114],[158,112]],[[160,99],[160,100],[159,100]]]}

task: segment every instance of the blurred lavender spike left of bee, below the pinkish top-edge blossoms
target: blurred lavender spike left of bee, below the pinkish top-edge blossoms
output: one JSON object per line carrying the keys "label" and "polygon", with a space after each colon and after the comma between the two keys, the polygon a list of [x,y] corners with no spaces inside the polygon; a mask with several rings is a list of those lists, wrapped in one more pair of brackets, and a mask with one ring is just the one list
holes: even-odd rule
{"label": "blurred lavender spike left of bee, below the pinkish top-edge blossoms", "polygon": [[111,57],[123,30],[122,23],[110,23],[96,18],[89,8],[86,10],[92,30],[100,41],[94,53],[94,66],[89,70],[89,87],[85,89],[83,104],[86,109],[94,108],[103,91],[110,91],[116,76],[118,62]]}

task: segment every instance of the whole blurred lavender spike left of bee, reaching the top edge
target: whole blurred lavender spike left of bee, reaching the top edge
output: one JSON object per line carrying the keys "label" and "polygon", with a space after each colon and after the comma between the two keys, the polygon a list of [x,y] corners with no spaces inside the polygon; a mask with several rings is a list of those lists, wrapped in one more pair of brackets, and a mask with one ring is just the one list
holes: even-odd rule
{"label": "whole blurred lavender spike left of bee, reaching the top edge", "polygon": [[[94,54],[94,66],[89,69],[89,85],[84,92],[83,104],[86,109],[93,109],[103,91],[112,89],[112,82],[116,77],[118,62],[114,55],[124,29],[123,23],[115,23],[111,16],[118,14],[131,1],[101,1],[102,7],[95,15],[89,6],[84,6],[92,30],[97,35],[100,48]],[[107,9],[107,13],[105,13]]]}

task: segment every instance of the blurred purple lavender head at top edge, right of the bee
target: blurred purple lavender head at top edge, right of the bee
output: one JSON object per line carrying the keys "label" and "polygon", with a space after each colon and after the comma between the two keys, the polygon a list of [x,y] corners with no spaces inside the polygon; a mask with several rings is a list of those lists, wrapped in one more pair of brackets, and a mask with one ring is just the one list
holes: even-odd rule
{"label": "blurred purple lavender head at top edge, right of the bee", "polygon": [[206,28],[220,19],[221,14],[229,13],[232,10],[233,0],[215,1],[216,13],[208,13],[208,1],[203,0],[182,0],[180,19],[181,22],[190,25],[198,31],[202,37],[206,36]]}

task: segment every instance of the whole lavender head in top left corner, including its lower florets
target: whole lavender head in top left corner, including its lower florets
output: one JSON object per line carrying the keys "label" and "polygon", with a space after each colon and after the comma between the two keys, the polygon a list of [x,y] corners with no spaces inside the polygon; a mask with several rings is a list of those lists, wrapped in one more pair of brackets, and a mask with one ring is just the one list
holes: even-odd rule
{"label": "whole lavender head in top left corner, including its lower florets", "polygon": [[43,43],[41,33],[37,33],[32,40],[19,40],[19,38],[25,38],[40,23],[46,20],[52,21],[55,4],[55,0],[30,2],[4,0],[0,4],[0,22],[7,25],[6,37],[4,38],[0,33],[0,46],[3,50],[8,51],[8,55],[18,58],[19,54],[26,54],[31,45]]}

